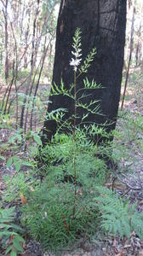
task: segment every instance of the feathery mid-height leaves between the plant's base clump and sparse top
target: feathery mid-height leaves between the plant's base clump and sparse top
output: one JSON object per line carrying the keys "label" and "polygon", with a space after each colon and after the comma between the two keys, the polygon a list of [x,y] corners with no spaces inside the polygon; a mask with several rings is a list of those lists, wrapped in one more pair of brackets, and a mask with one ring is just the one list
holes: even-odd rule
{"label": "feathery mid-height leaves between the plant's base clump and sparse top", "polygon": [[[52,143],[46,145],[39,152],[41,161],[45,163],[43,170],[38,172],[49,175],[50,179],[56,179],[64,176],[73,176],[73,138],[72,135],[56,134]],[[86,137],[83,130],[76,133],[76,166],[77,166],[77,182],[86,184],[90,187],[90,183],[98,183],[105,181],[106,164],[104,160],[100,160],[98,148],[92,141]],[[86,168],[85,168],[86,166]],[[92,180],[93,178],[93,180]]]}

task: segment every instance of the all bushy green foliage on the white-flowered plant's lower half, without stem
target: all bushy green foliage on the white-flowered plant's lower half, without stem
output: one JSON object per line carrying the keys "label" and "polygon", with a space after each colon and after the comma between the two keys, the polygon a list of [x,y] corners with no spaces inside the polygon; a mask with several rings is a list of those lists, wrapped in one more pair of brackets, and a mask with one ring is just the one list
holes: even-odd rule
{"label": "all bushy green foliage on the white-flowered plant's lower half, without stem", "polygon": [[105,183],[106,165],[97,156],[97,147],[83,131],[76,134],[77,196],[72,163],[72,135],[56,134],[52,143],[41,148],[43,183],[30,192],[23,207],[23,224],[43,247],[72,245],[79,237],[90,236],[98,226],[98,211],[91,207],[95,186]]}

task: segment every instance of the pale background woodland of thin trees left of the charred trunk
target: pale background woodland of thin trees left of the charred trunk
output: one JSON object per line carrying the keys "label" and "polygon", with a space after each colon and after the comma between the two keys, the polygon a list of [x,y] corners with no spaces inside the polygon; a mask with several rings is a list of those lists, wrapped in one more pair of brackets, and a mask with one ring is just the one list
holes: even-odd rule
{"label": "pale background woodland of thin trees left of the charred trunk", "polygon": [[57,3],[0,0],[0,112],[12,111],[16,126],[24,131],[33,129],[39,84],[49,88]]}

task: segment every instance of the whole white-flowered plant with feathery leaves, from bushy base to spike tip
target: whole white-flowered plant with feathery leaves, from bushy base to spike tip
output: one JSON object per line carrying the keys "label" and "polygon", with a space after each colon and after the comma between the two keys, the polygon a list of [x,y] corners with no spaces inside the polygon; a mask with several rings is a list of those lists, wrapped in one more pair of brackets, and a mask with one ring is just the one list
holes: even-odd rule
{"label": "whole white-flowered plant with feathery leaves, from bushy base to spike tip", "polygon": [[[69,63],[73,67],[73,83],[69,90],[63,81],[60,86],[54,83],[50,91],[52,96],[70,97],[74,111],[68,119],[68,110],[63,108],[47,114],[47,119],[56,121],[58,129],[51,143],[39,152],[44,163],[38,170],[43,175],[43,183],[30,192],[30,198],[23,207],[23,221],[28,230],[46,248],[67,246],[69,242],[73,244],[78,236],[87,232],[90,236],[94,232],[98,214],[93,204],[94,188],[106,180],[106,164],[98,157],[97,145],[89,139],[89,131],[94,131],[94,125],[86,125],[89,113],[101,114],[99,102],[83,103],[88,96],[85,91],[91,93],[91,90],[100,88],[94,80],[90,82],[86,77],[96,50],[92,49],[82,60],[81,47],[81,31],[77,28]],[[83,73],[83,88],[79,88],[78,78]],[[83,108],[83,116],[79,116],[78,108]]]}

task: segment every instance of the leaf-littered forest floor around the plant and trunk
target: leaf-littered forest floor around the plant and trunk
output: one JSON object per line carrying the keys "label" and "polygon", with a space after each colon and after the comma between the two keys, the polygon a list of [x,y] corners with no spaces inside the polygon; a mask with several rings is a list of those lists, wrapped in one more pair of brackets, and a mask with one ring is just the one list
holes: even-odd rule
{"label": "leaf-littered forest floor around the plant and trunk", "polygon": [[[142,90],[142,89],[141,89]],[[119,195],[128,195],[130,204],[134,201],[137,205],[137,210],[143,211],[143,132],[136,125],[140,126],[143,123],[143,107],[142,102],[143,92],[133,90],[133,86],[129,86],[127,91],[126,101],[124,103],[123,112],[128,114],[128,118],[124,119],[123,114],[119,113],[117,121],[117,131],[122,131],[123,137],[120,139],[120,144],[124,147],[123,156],[117,161],[116,172],[113,171],[111,178],[106,187],[114,187]],[[137,117],[137,118],[136,118]],[[130,120],[134,120],[134,125],[130,126]],[[133,124],[132,123],[132,124]],[[8,138],[11,136],[9,129],[0,129],[0,143],[7,145]],[[16,153],[17,156],[22,154]],[[6,162],[12,155],[12,148],[1,147],[1,155],[5,160],[0,160],[0,198],[3,196],[6,185],[3,182],[3,177],[9,174],[14,176],[14,167],[8,168]],[[19,201],[18,204],[21,202]],[[11,202],[10,205],[13,203]],[[0,207],[2,204],[0,202]],[[9,207],[7,205],[6,207]],[[53,253],[43,253],[40,244],[35,241],[27,241],[25,252],[20,254],[23,256],[46,256]],[[2,254],[3,255],[3,254]],[[65,256],[141,256],[143,255],[143,241],[133,232],[130,239],[119,239],[119,237],[102,236],[96,233],[90,241],[79,242],[79,246],[73,246],[73,250],[58,255]]]}

